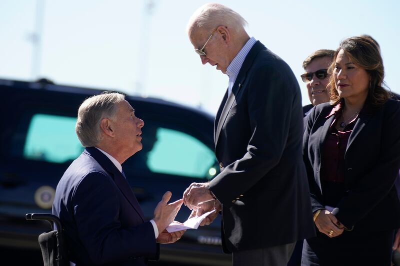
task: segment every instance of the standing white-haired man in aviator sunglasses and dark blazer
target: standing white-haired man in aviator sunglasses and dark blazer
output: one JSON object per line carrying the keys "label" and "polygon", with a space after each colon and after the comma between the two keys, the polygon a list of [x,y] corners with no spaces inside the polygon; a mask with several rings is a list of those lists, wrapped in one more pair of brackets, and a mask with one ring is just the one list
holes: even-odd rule
{"label": "standing white-haired man in aviator sunglasses and dark blazer", "polygon": [[233,266],[280,266],[297,240],[315,234],[301,156],[301,92],[290,67],[250,38],[245,23],[221,4],[206,4],[189,20],[201,62],[229,81],[214,126],[220,173],[192,183],[183,201],[194,212],[204,202],[221,209],[222,247],[233,253]]}

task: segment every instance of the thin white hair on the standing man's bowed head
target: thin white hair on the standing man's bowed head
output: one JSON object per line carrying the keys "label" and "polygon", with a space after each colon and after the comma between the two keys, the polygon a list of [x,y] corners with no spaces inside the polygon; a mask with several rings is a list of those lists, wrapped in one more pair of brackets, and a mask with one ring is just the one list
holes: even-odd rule
{"label": "thin white hair on the standing man's bowed head", "polygon": [[219,25],[227,25],[233,31],[244,30],[244,26],[247,25],[247,21],[227,6],[219,3],[207,3],[200,6],[191,15],[189,22],[186,26],[186,32],[188,35],[197,28],[203,27],[206,30]]}

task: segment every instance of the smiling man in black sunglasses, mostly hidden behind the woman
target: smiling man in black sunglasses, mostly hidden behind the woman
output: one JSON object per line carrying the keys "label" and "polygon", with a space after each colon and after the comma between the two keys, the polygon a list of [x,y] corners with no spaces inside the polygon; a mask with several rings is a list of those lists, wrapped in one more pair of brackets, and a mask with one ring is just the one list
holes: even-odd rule
{"label": "smiling man in black sunglasses, mostly hidden behind the woman", "polygon": [[326,90],[329,80],[327,69],[333,54],[333,50],[321,49],[311,53],[303,61],[305,73],[301,75],[301,80],[306,83],[308,99],[311,102],[303,107],[304,116],[313,106],[329,101],[329,92]]}

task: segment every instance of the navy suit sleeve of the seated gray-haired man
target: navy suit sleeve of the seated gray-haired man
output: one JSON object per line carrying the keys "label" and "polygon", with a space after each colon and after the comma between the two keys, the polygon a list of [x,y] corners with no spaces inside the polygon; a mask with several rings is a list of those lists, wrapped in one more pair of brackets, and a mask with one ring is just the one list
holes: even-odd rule
{"label": "navy suit sleeve of the seated gray-haired man", "polygon": [[79,239],[96,264],[129,257],[156,257],[157,245],[150,222],[123,227],[119,221],[119,199],[108,176],[86,175],[72,196]]}

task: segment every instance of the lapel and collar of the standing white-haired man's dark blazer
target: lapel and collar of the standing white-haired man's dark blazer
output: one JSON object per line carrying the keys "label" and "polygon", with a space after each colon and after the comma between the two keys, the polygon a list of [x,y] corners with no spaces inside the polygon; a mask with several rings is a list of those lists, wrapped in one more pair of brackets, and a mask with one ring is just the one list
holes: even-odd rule
{"label": "lapel and collar of the standing white-haired man's dark blazer", "polygon": [[[227,97],[226,102],[223,105],[221,113],[218,117],[218,121],[215,119],[215,125],[216,125],[216,127],[214,125],[214,128],[216,128],[214,131],[215,132],[215,134],[214,134],[215,151],[216,151],[216,146],[218,144],[218,138],[221,133],[222,126],[225,123],[225,120],[229,113],[229,110],[232,107],[233,103],[235,102],[236,96],[238,95],[240,89],[243,87],[242,84],[247,76],[248,69],[251,67],[251,65],[255,59],[255,56],[261,49],[266,49],[266,48],[259,41],[255,42],[254,45],[251,47],[250,51],[248,52],[248,54],[246,55],[246,58],[243,61],[243,64],[241,65],[240,71],[236,77],[234,84],[233,84],[232,92]],[[227,92],[225,94],[225,97],[226,96],[227,96]],[[225,99],[225,97],[223,99]],[[223,102],[224,101],[222,100],[221,106],[222,106]],[[220,110],[221,106],[219,107],[219,110]],[[219,110],[218,110],[218,113],[219,113]]]}

